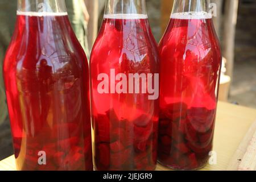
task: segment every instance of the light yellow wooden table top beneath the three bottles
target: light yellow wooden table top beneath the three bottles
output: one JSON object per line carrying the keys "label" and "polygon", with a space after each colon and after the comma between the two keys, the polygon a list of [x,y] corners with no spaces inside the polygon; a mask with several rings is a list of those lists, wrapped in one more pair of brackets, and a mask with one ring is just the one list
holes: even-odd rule
{"label": "light yellow wooden table top beneath the three bottles", "polygon": [[[202,170],[226,170],[230,159],[232,159],[254,121],[256,121],[255,109],[219,102],[214,136],[214,151],[217,152],[217,164],[208,164]],[[14,156],[10,156],[0,162],[1,170],[16,170]],[[156,170],[167,171],[168,169],[158,164]]]}

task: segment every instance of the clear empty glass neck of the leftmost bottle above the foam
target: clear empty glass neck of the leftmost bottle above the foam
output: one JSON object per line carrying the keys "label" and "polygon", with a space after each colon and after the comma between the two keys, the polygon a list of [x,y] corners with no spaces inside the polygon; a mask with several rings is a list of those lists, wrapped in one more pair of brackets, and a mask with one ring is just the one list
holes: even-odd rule
{"label": "clear empty glass neck of the leftmost bottle above the foam", "polygon": [[18,0],[18,12],[67,13],[67,8],[65,0]]}

